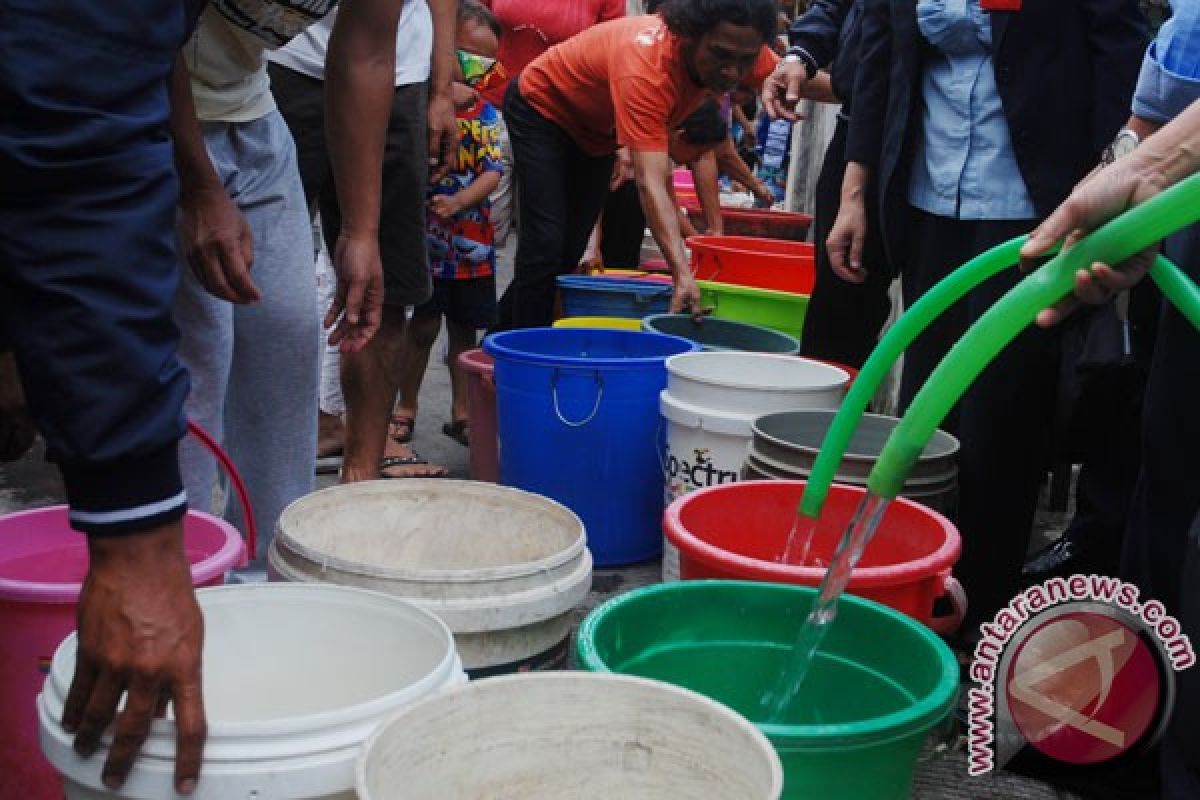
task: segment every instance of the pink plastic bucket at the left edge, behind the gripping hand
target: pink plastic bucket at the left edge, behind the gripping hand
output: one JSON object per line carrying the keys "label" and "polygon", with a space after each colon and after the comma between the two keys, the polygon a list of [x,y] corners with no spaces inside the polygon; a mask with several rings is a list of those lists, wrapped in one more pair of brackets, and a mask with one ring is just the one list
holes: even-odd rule
{"label": "pink plastic bucket at the left edge, behind the gripping hand", "polygon": [[[241,534],[190,511],[184,546],[197,587],[222,583],[245,560]],[[42,757],[34,705],[50,656],[76,627],[76,600],[88,571],[88,540],[66,506],[0,517],[0,798],[61,798],[62,780]]]}

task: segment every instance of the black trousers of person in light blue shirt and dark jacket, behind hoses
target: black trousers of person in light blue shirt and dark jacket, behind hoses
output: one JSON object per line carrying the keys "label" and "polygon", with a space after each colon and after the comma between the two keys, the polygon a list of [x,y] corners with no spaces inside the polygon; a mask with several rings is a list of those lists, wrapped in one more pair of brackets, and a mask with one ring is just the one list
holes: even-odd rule
{"label": "black trousers of person in light blue shirt and dark jacket, behind hoses", "polygon": [[[952,219],[911,211],[901,270],[910,306],[955,267],[1037,224],[1033,219]],[[1016,269],[992,277],[913,342],[905,353],[901,408],[907,409],[967,327],[1020,278]],[[1056,330],[1021,332],[942,425],[961,443],[958,523],[962,560],[955,572],[971,600],[964,630],[990,619],[1021,588],[1038,491],[1050,461],[1058,341]]]}

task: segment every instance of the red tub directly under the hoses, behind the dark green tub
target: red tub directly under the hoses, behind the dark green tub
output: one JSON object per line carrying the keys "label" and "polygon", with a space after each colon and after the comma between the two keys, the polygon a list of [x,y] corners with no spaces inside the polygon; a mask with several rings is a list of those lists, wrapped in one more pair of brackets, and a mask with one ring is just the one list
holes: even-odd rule
{"label": "red tub directly under the hoses, behind the dark green tub", "polygon": [[[684,581],[733,578],[816,587],[826,570],[778,564],[803,481],[743,481],[685,494],[664,515],[662,530],[679,548]],[[866,489],[834,483],[812,541],[812,555],[828,564]],[[875,539],[850,582],[850,593],[868,597],[949,633],[966,612],[962,588],[950,576],[962,541],[949,519],[899,498],[892,503]],[[947,596],[948,616],[934,616],[934,601]]]}

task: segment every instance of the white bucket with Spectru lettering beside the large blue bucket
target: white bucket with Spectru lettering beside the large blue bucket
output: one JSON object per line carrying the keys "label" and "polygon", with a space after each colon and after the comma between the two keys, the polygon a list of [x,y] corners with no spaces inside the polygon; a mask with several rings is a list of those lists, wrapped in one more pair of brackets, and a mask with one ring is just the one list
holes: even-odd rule
{"label": "white bucket with Spectru lettering beside the large blue bucket", "polygon": [[[763,414],[836,409],[850,374],[786,355],[688,353],[667,359],[659,396],[666,423],[665,503],[740,480],[754,421]],[[679,552],[662,540],[662,579],[679,579]]]}

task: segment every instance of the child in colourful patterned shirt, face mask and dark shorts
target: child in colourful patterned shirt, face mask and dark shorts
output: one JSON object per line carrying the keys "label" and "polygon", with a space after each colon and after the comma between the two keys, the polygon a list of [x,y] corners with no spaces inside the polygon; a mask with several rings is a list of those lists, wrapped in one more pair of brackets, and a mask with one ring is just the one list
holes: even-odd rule
{"label": "child in colourful patterned shirt, face mask and dark shorts", "polygon": [[458,67],[455,106],[458,156],[450,174],[430,190],[426,242],[433,272],[433,297],[413,311],[404,337],[400,408],[416,413],[416,397],[430,349],[446,320],[450,368],[450,421],[442,432],[468,444],[467,379],[458,355],[475,347],[476,331],[496,323],[496,248],[488,196],[500,182],[499,128],[496,108],[479,92],[503,80],[496,61],[500,25],[474,0],[458,4]]}

